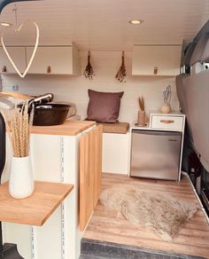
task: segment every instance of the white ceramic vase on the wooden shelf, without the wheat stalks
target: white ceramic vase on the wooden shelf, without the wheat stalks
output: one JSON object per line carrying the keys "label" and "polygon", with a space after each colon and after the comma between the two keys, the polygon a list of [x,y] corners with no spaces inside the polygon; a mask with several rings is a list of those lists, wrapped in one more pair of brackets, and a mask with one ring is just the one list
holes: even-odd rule
{"label": "white ceramic vase on the wooden shelf, without the wheat stalks", "polygon": [[13,198],[27,198],[34,192],[34,174],[30,157],[12,157],[9,192]]}

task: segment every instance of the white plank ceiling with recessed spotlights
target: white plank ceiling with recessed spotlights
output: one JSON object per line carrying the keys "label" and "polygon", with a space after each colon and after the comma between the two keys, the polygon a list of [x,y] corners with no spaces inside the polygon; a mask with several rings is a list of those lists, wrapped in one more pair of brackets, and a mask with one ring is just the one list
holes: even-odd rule
{"label": "white plank ceiling with recessed spotlights", "polygon": [[[80,50],[130,51],[134,44],[181,44],[209,18],[209,0],[43,0],[19,2],[18,20],[35,20],[42,44],[76,43]],[[14,4],[1,21],[15,23]],[[131,19],[144,20],[133,26]],[[1,29],[2,31],[2,29]],[[8,44],[32,43],[35,28],[5,32]]]}

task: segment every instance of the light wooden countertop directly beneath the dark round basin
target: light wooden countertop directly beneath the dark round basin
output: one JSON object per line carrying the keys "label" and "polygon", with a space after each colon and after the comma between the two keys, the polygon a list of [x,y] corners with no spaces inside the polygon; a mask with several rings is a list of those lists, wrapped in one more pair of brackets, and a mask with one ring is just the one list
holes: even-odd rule
{"label": "light wooden countertop directly beneath the dark round basin", "polygon": [[33,126],[31,133],[76,136],[94,125],[96,125],[96,122],[66,120],[64,124],[57,126]]}

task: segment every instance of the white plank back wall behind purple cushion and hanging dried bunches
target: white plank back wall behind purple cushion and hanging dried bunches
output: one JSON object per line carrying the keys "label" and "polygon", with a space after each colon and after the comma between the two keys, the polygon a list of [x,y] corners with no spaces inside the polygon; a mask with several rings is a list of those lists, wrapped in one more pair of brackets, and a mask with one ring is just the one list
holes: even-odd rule
{"label": "white plank back wall behind purple cushion and hanging dried bunches", "polygon": [[[55,94],[55,100],[74,102],[78,114],[86,117],[88,106],[88,89],[101,91],[124,91],[120,106],[120,122],[133,122],[137,118],[137,98],[143,95],[145,109],[158,110],[163,104],[163,90],[170,84],[172,86],[171,106],[174,110],[179,107],[175,92],[174,77],[132,76],[132,52],[125,52],[125,63],[128,72],[127,82],[117,82],[114,78],[120,67],[119,51],[92,51],[91,64],[95,70],[92,81],[83,75],[79,77],[64,75],[27,75],[24,79],[18,75],[2,75],[3,90],[12,90],[12,85],[19,85],[19,92],[39,95],[45,92]],[[87,52],[80,51],[81,71],[87,63]],[[49,64],[50,65],[50,64]]]}

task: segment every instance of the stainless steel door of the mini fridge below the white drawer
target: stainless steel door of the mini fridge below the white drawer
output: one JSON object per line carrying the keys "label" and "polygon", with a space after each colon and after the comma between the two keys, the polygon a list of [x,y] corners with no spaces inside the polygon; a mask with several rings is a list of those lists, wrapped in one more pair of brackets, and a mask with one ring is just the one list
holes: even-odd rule
{"label": "stainless steel door of the mini fridge below the white drawer", "polygon": [[178,180],[182,132],[132,130],[130,176]]}

